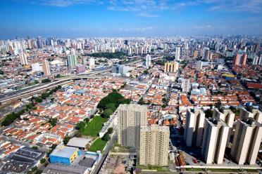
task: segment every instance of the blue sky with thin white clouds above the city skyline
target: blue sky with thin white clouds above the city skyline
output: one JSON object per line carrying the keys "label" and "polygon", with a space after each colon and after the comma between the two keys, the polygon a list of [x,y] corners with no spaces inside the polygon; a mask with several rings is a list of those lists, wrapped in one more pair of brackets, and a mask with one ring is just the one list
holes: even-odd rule
{"label": "blue sky with thin white clouds above the city skyline", "polygon": [[0,0],[0,11],[0,39],[262,34],[262,0]]}

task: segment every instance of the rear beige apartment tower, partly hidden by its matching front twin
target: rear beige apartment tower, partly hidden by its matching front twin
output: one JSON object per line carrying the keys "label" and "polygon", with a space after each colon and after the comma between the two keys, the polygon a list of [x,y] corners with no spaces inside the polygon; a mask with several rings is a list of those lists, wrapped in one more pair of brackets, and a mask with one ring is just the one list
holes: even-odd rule
{"label": "rear beige apartment tower, partly hidden by its matching front twin", "polygon": [[140,127],[147,125],[147,107],[145,105],[119,105],[118,143],[125,147],[139,147]]}

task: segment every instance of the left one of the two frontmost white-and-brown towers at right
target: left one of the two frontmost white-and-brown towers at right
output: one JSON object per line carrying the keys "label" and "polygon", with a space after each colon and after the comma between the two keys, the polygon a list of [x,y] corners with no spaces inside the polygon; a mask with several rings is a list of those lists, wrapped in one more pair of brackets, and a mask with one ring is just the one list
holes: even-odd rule
{"label": "left one of the two frontmost white-and-brown towers at right", "polygon": [[223,163],[229,126],[218,119],[205,119],[201,155],[206,163]]}

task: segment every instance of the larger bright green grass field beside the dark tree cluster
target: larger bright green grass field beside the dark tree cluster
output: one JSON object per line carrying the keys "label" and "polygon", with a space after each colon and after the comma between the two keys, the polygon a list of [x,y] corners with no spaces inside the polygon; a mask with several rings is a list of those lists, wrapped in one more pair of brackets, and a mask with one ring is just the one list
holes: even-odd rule
{"label": "larger bright green grass field beside the dark tree cluster", "polygon": [[94,116],[92,121],[87,123],[85,127],[82,126],[80,128],[80,131],[82,135],[96,137],[99,131],[101,131],[101,129],[103,128],[103,123],[105,123],[107,120],[108,119],[104,119],[101,116]]}

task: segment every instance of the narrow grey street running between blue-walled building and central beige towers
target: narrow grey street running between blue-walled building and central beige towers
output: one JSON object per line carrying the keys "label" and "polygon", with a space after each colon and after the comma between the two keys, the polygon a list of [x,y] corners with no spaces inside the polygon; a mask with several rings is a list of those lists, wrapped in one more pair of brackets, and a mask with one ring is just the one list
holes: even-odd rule
{"label": "narrow grey street running between blue-walled building and central beige towers", "polygon": [[94,174],[98,174],[99,173],[99,171],[101,170],[101,167],[104,164],[104,161],[105,161],[106,157],[109,154],[110,149],[115,144],[117,138],[118,138],[118,136],[116,135],[116,131],[114,131],[113,135],[111,136],[111,139],[109,140],[108,144],[106,145],[106,148],[104,150],[104,153],[103,153],[99,163],[96,164],[96,167],[94,168],[92,173],[94,173]]}

